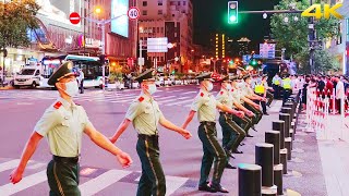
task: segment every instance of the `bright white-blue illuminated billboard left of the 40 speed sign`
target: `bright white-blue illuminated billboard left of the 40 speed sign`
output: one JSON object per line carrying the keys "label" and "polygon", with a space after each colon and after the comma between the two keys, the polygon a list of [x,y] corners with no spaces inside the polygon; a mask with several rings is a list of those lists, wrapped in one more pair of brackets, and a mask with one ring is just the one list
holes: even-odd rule
{"label": "bright white-blue illuminated billboard left of the 40 speed sign", "polygon": [[129,37],[129,0],[111,0],[111,32]]}

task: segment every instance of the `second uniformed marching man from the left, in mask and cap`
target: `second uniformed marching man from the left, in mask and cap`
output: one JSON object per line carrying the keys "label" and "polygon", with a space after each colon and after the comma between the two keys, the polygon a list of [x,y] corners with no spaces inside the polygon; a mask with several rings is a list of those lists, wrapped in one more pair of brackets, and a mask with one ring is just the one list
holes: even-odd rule
{"label": "second uniformed marching man from the left, in mask and cap", "polygon": [[166,180],[159,159],[157,126],[160,124],[181,134],[186,139],[192,135],[189,131],[176,126],[164,117],[158,103],[153,98],[153,94],[156,91],[153,70],[145,71],[135,79],[141,84],[141,95],[131,103],[125,119],[110,140],[116,143],[132,122],[139,134],[136,150],[142,162],[142,176],[139,183],[137,196],[165,196]]}

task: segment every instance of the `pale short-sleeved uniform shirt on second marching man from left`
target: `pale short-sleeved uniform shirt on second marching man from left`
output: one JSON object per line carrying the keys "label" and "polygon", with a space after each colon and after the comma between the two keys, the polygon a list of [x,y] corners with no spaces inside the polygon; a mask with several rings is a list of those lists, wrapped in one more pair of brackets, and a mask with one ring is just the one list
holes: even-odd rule
{"label": "pale short-sleeved uniform shirt on second marching man from left", "polygon": [[163,115],[154,98],[141,94],[131,103],[125,119],[132,121],[133,127],[139,134],[156,135],[158,134],[157,126]]}

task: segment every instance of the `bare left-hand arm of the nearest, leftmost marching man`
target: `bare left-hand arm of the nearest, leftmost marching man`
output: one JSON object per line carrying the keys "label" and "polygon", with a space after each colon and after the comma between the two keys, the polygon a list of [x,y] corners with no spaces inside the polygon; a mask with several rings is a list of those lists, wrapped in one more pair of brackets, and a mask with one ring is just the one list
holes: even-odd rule
{"label": "bare left-hand arm of the nearest, leftmost marching man", "polygon": [[24,169],[25,169],[27,162],[29,161],[31,157],[35,152],[36,147],[39,144],[39,142],[41,140],[41,138],[43,138],[43,136],[40,134],[38,134],[37,132],[33,132],[33,134],[31,135],[28,142],[26,143],[26,145],[24,147],[19,167],[15,170],[13,170],[10,174],[10,181],[13,184],[15,184],[22,180]]}

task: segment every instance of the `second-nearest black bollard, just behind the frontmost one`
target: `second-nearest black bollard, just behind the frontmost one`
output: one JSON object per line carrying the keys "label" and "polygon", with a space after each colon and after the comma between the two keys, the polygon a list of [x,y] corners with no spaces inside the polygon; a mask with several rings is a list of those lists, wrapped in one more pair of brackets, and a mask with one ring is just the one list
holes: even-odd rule
{"label": "second-nearest black bollard, just behind the frontmost one", "polygon": [[274,146],[272,144],[258,143],[255,145],[255,164],[262,167],[262,186],[274,185]]}

